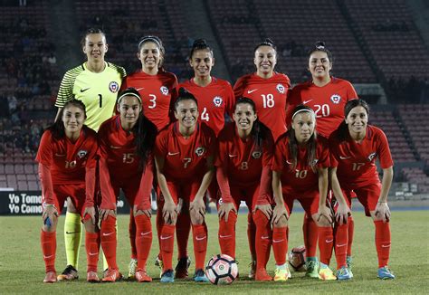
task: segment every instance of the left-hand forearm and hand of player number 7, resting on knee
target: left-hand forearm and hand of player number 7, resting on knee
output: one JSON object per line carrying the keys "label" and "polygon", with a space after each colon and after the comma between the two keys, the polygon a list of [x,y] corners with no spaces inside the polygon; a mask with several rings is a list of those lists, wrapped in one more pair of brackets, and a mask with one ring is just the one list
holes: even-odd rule
{"label": "left-hand forearm and hand of player number 7, resting on knee", "polygon": [[155,156],[155,164],[157,166],[157,183],[161,189],[162,195],[164,195],[164,206],[162,208],[162,216],[166,224],[176,224],[177,220],[177,207],[173,197],[170,194],[170,190],[167,186],[167,178],[163,173],[165,158],[161,156]]}

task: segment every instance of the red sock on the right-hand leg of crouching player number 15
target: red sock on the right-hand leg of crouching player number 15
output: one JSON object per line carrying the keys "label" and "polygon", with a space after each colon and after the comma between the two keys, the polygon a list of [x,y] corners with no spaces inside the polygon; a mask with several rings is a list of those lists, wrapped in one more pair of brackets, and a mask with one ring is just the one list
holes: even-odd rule
{"label": "red sock on the right-hand leg of crouching player number 15", "polygon": [[138,269],[146,270],[146,262],[152,246],[152,224],[145,214],[134,217],[136,220],[136,245]]}

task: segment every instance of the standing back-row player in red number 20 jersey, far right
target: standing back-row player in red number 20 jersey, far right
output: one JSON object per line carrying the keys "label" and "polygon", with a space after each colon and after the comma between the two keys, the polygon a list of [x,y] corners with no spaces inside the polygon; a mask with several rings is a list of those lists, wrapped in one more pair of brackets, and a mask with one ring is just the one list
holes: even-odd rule
{"label": "standing back-row player in red number 20 jersey, far right", "polygon": [[[324,138],[329,138],[332,131],[338,128],[344,118],[344,106],[349,100],[358,99],[358,94],[349,81],[338,79],[330,75],[332,70],[332,53],[323,42],[317,42],[309,52],[309,70],[311,81],[301,83],[291,91],[291,100],[288,107],[288,121],[291,120],[291,109],[300,104],[304,104],[313,109],[316,113],[318,124],[316,126],[318,134]],[[353,218],[348,217],[347,224],[336,224],[335,245],[343,244],[347,238],[346,229],[348,227],[348,265],[351,265],[351,242],[353,237]],[[304,243],[307,252],[307,273],[311,278],[318,278],[318,262],[316,259],[316,246],[318,241],[318,226],[309,215],[304,216],[302,225],[304,233]],[[333,246],[333,243],[332,243]],[[332,247],[331,246],[331,247]],[[337,261],[342,260],[346,253],[345,249],[336,246]],[[321,269],[328,268],[324,263],[320,264]]]}

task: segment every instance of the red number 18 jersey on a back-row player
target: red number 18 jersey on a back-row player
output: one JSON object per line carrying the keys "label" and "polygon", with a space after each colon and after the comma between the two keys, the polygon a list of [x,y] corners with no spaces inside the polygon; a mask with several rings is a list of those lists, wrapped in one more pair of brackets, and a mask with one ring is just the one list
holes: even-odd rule
{"label": "red number 18 jersey on a back-row player", "polygon": [[246,97],[254,101],[258,118],[277,140],[287,130],[286,101],[290,89],[291,81],[285,74],[274,72],[272,78],[263,79],[251,73],[235,82],[234,95],[236,100]]}

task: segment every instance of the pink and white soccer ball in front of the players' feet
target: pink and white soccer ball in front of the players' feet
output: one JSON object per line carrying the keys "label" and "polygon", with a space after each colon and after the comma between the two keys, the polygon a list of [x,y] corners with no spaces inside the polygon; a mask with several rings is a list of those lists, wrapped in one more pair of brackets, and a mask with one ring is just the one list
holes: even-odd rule
{"label": "pink and white soccer ball in front of the players' feet", "polygon": [[212,257],[205,267],[205,276],[215,285],[230,284],[237,278],[237,275],[237,262],[226,254]]}

